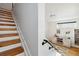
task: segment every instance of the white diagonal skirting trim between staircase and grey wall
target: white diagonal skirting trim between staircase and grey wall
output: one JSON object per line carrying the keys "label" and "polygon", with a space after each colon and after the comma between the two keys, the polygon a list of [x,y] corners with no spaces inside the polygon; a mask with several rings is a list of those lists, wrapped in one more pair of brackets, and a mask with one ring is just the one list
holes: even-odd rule
{"label": "white diagonal skirting trim between staircase and grey wall", "polygon": [[17,22],[15,21],[15,16],[14,16],[13,12],[12,12],[12,17],[13,17],[14,22],[15,22],[15,24],[16,24],[16,28],[17,28],[17,31],[18,31],[18,33],[19,33],[19,37],[21,38],[21,42],[22,42],[22,46],[23,46],[23,48],[24,48],[25,54],[26,54],[26,56],[31,56],[30,51],[29,51],[29,48],[28,48],[28,46],[27,46],[27,43],[25,42],[24,37],[23,37],[23,35],[22,35],[22,32],[21,32],[21,30],[20,30],[20,27],[19,27],[19,25],[17,24]]}

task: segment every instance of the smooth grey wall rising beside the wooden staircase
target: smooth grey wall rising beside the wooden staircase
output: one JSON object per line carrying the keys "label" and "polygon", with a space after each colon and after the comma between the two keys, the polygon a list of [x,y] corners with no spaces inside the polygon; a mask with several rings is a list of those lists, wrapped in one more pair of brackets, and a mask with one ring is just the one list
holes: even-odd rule
{"label": "smooth grey wall rising beside the wooden staircase", "polygon": [[24,40],[31,55],[38,55],[38,8],[37,4],[19,3],[14,5],[16,22],[19,25]]}

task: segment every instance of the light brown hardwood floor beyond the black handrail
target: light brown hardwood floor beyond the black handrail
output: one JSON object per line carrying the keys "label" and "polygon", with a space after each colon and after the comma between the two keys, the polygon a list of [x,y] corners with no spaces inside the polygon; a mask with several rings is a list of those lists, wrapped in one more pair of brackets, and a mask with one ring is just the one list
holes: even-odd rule
{"label": "light brown hardwood floor beyond the black handrail", "polygon": [[64,56],[79,56],[79,48],[76,48],[76,47],[68,48],[68,47],[65,47],[61,44],[53,43],[50,39],[49,39],[49,41],[60,52],[60,54],[63,54]]}

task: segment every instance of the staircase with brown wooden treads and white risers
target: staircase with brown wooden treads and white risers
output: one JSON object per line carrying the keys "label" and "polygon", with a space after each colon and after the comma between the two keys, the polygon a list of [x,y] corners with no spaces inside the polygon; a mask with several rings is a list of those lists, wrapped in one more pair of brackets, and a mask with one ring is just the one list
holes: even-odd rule
{"label": "staircase with brown wooden treads and white risers", "polygon": [[0,8],[0,56],[24,56],[12,12]]}

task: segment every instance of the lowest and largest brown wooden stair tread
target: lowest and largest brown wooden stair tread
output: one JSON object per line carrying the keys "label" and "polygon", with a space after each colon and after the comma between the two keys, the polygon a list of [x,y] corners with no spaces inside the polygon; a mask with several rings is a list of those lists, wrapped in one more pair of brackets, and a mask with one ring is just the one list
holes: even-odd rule
{"label": "lowest and largest brown wooden stair tread", "polygon": [[20,54],[22,52],[24,52],[23,48],[17,47],[17,48],[14,48],[14,49],[10,49],[10,50],[7,50],[7,51],[0,52],[0,56],[15,56],[15,55]]}

